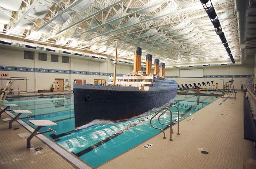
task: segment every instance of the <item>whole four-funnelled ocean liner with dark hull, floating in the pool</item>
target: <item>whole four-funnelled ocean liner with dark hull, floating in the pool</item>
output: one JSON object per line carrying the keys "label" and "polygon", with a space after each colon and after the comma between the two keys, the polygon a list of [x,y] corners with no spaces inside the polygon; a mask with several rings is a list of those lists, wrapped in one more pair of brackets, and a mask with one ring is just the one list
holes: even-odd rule
{"label": "whole four-funnelled ocean liner with dark hull, floating in the pool", "polygon": [[[117,51],[116,51],[117,52]],[[133,72],[109,77],[107,84],[74,84],[75,126],[85,125],[96,119],[117,121],[131,118],[153,108],[162,107],[176,97],[177,83],[166,80],[165,63],[155,59],[151,73],[152,55],[146,55],[146,72],[141,71],[142,49],[135,48]],[[117,60],[117,54],[116,54]]]}

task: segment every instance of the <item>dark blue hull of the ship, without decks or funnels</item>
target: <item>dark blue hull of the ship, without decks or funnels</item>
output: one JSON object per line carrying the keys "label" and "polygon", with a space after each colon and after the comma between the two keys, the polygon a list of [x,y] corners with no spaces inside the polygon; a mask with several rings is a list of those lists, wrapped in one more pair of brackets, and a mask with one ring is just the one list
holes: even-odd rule
{"label": "dark blue hull of the ship, without decks or funnels", "polygon": [[117,91],[74,88],[76,127],[95,119],[121,120],[161,107],[176,97],[177,89]]}

